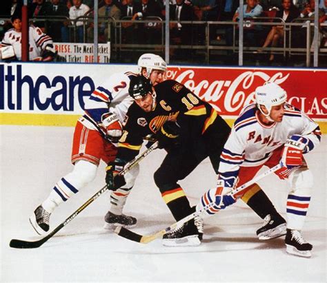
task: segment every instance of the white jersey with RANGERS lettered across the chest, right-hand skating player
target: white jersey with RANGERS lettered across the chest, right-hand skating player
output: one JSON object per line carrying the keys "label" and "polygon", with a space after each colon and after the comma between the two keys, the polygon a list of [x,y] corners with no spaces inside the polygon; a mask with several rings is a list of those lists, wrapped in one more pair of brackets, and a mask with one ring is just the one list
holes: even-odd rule
{"label": "white jersey with RANGERS lettered across the chest, right-hand skating player", "polygon": [[237,177],[239,167],[263,165],[273,151],[286,143],[294,134],[310,140],[308,151],[320,141],[319,125],[304,112],[285,104],[281,123],[266,126],[260,123],[259,109],[255,104],[245,107],[235,120],[232,132],[221,153],[219,174],[221,178]]}

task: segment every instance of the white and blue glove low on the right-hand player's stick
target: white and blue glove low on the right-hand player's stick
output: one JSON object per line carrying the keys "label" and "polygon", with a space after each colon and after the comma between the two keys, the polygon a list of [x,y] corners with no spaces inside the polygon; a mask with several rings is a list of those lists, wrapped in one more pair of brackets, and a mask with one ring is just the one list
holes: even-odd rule
{"label": "white and blue glove low on the right-hand player's stick", "polygon": [[236,202],[236,199],[230,193],[232,188],[225,187],[224,180],[218,180],[217,188],[209,189],[204,196],[201,197],[199,204],[197,205],[197,211],[203,209],[211,203],[215,203],[212,207],[206,209],[206,214],[212,215],[217,213],[221,209],[225,209],[229,205],[232,205]]}

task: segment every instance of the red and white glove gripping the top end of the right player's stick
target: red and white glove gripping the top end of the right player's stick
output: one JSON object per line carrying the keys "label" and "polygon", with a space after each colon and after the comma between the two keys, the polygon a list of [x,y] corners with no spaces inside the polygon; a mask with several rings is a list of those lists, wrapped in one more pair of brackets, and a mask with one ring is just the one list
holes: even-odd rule
{"label": "red and white glove gripping the top end of the right player's stick", "polygon": [[281,153],[281,162],[287,169],[292,169],[303,163],[303,154],[307,152],[309,141],[308,138],[300,135],[293,135],[286,140]]}

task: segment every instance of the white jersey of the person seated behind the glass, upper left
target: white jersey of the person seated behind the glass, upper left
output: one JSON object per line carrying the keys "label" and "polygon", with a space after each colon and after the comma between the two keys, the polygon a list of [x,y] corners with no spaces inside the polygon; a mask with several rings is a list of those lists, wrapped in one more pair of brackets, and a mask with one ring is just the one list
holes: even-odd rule
{"label": "white jersey of the person seated behind the glass, upper left", "polygon": [[[46,48],[46,45],[52,44],[52,39],[47,34],[43,34],[40,28],[30,25],[29,27],[29,49],[30,49],[30,61],[41,56],[42,50]],[[12,45],[14,48],[14,54],[17,59],[21,61],[21,32],[17,32],[14,28],[8,30],[3,36],[1,45]]]}

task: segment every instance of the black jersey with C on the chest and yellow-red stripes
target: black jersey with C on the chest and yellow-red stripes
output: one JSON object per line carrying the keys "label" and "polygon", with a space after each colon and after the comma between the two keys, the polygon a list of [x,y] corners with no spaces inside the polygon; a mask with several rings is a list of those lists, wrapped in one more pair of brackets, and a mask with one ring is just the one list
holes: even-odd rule
{"label": "black jersey with C on the chest and yellow-red stripes", "polygon": [[177,81],[159,83],[155,86],[155,93],[156,105],[151,112],[144,112],[135,102],[130,105],[117,158],[132,160],[139,153],[143,138],[156,134],[168,120],[177,121],[181,128],[181,143],[186,146],[206,134],[217,119],[218,114],[209,103]]}

